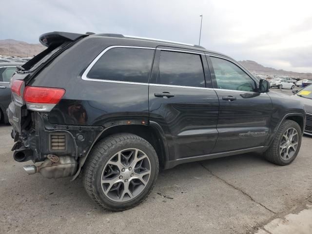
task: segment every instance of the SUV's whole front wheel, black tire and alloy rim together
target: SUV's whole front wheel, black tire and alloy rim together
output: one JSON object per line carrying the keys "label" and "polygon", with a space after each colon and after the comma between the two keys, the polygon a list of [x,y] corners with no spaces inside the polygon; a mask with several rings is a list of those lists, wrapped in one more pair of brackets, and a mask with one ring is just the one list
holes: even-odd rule
{"label": "SUV's whole front wheel, black tire and alloy rim together", "polygon": [[285,120],[264,155],[274,164],[281,166],[291,164],[298,155],[301,140],[302,132],[299,124],[292,120]]}

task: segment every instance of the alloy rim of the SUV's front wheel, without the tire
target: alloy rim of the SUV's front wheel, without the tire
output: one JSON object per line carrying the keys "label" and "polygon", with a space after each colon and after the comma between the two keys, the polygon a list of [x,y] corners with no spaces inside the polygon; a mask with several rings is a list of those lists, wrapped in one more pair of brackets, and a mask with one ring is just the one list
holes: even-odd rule
{"label": "alloy rim of the SUV's front wheel, without the tire", "polygon": [[298,141],[299,136],[295,128],[289,128],[285,131],[279,145],[279,153],[284,160],[289,160],[294,156],[298,147]]}

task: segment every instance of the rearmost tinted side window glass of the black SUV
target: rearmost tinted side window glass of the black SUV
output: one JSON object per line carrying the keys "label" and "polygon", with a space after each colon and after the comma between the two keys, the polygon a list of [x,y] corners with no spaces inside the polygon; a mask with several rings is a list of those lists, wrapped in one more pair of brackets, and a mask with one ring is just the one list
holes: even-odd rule
{"label": "rearmost tinted side window glass of the black SUV", "polygon": [[92,67],[87,77],[148,83],[154,50],[113,48]]}

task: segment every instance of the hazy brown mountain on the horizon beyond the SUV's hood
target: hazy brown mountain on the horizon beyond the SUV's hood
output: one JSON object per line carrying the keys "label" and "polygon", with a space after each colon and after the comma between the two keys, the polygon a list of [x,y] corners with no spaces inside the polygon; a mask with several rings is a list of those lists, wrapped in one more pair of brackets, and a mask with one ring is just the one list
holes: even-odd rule
{"label": "hazy brown mountain on the horizon beyond the SUV's hood", "polygon": [[255,72],[261,75],[280,75],[280,76],[294,76],[300,78],[312,78],[312,73],[300,73],[300,72],[287,72],[284,70],[276,70],[272,67],[264,67],[261,64],[252,60],[238,61],[250,72]]}

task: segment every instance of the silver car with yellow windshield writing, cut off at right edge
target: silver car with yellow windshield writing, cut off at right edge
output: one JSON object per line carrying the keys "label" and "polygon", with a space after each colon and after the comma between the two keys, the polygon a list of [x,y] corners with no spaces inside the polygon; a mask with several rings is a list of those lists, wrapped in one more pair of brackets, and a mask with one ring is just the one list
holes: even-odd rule
{"label": "silver car with yellow windshield writing, cut off at right edge", "polygon": [[294,93],[292,98],[301,100],[304,104],[307,114],[304,133],[312,136],[312,85],[309,85],[301,90],[292,90],[292,93]]}

